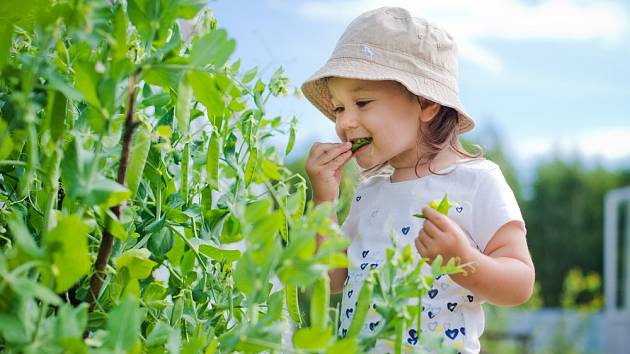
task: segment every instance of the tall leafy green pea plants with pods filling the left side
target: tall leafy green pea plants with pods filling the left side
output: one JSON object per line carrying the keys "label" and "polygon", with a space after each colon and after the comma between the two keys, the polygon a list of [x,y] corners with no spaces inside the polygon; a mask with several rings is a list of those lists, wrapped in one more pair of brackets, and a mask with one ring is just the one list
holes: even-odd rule
{"label": "tall leafy green pea plants with pods filling the left side", "polygon": [[420,318],[404,300],[460,270],[435,260],[420,276],[410,249],[390,251],[359,301],[373,295],[386,325],[364,337],[358,314],[341,338],[327,271],[348,266],[347,241],[336,206],[307,203],[284,165],[297,119],[265,110],[289,93],[281,68],[241,70],[205,0],[13,11],[0,24],[1,351],[363,352],[400,343]]}

